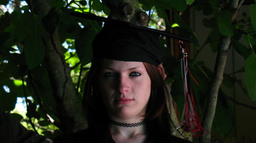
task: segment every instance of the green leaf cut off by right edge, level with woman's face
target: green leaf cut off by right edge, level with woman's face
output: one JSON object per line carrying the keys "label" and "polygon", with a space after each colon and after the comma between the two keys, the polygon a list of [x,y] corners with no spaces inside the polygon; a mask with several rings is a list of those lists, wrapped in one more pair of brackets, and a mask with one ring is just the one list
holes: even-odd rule
{"label": "green leaf cut off by right edge, level with woman's face", "polygon": [[245,62],[245,84],[253,101],[256,101],[256,57],[251,54]]}

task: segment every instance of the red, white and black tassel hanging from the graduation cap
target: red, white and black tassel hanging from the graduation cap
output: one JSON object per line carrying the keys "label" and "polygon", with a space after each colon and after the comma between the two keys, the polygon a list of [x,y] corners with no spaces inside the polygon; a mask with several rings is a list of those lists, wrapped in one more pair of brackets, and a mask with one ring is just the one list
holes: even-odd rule
{"label": "red, white and black tassel hanging from the graduation cap", "polygon": [[[185,96],[184,97],[185,98],[185,111],[184,111],[185,120],[181,123],[181,125],[185,131],[193,132],[193,135],[202,135],[204,132],[204,129],[201,126],[201,121],[196,111],[195,101],[194,101],[193,92],[190,84],[190,77],[189,77],[191,73],[187,65],[187,53],[182,41],[179,41],[179,48],[180,48],[180,54],[181,54],[180,61],[181,61],[181,70],[182,70],[184,96]],[[187,72],[189,72],[189,74]],[[197,83],[197,81],[192,75],[191,77]]]}

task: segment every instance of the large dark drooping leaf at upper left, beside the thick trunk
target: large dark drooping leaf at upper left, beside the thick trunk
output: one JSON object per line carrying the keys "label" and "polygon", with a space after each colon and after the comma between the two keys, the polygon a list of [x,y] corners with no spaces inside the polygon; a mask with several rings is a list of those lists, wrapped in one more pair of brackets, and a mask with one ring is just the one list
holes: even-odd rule
{"label": "large dark drooping leaf at upper left, beside the thick trunk", "polygon": [[25,59],[29,69],[35,68],[45,58],[45,46],[42,37],[44,28],[38,16],[25,11],[16,24],[16,37],[24,42]]}

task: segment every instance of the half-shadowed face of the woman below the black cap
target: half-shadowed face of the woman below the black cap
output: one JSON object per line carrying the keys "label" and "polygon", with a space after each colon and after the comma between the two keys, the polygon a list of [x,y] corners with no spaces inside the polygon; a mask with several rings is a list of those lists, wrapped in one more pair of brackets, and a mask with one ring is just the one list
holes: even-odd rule
{"label": "half-shadowed face of the woman below the black cap", "polygon": [[103,59],[98,89],[112,118],[141,118],[151,93],[151,79],[142,62]]}

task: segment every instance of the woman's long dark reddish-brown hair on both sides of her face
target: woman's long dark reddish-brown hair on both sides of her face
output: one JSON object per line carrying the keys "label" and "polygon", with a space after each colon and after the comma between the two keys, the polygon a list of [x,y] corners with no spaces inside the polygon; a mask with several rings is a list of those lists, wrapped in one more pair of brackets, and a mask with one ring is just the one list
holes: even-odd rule
{"label": "woman's long dark reddish-brown hair on both sides of her face", "polygon": [[[170,136],[170,115],[167,102],[169,102],[168,89],[157,66],[144,63],[148,76],[151,78],[151,95],[147,104],[145,122],[147,127],[147,141],[159,141],[159,137],[166,139]],[[98,131],[109,131],[109,118],[106,108],[97,91],[97,73],[101,65],[101,59],[94,59],[89,71],[82,100],[83,112],[88,120],[89,128],[96,128]]]}

